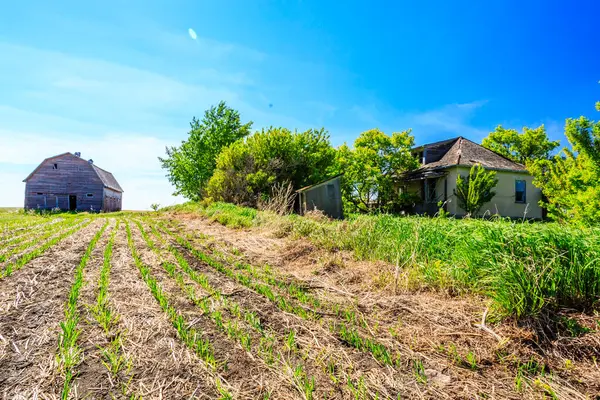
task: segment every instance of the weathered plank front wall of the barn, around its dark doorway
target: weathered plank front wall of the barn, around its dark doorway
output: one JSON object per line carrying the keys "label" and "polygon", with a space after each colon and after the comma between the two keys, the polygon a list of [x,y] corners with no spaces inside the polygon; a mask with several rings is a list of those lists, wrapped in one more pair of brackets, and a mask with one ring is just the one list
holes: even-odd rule
{"label": "weathered plank front wall of the barn, around its dark doorway", "polygon": [[104,184],[86,160],[66,154],[45,160],[29,178],[25,208],[69,210],[70,195],[76,196],[78,211],[102,209]]}

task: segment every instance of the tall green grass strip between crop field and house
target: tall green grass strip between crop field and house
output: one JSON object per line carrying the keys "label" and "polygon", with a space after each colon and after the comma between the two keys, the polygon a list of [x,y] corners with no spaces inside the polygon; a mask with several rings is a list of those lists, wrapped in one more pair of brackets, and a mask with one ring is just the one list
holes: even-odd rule
{"label": "tall green grass strip between crop field and house", "polygon": [[600,299],[600,228],[392,215],[329,221],[223,203],[170,210],[233,227],[272,224],[318,246],[352,251],[358,259],[398,264],[424,285],[486,295],[504,316],[558,307],[586,310]]}

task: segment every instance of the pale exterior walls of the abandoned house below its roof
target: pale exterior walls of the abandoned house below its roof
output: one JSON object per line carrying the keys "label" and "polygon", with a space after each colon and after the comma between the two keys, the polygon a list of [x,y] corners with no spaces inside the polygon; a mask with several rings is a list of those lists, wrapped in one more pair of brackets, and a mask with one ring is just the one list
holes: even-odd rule
{"label": "pale exterior walls of the abandoned house below its roof", "polygon": [[[464,216],[466,212],[458,205],[454,191],[456,189],[456,178],[459,174],[469,175],[469,168],[454,167],[449,169],[446,179],[448,181],[448,212],[457,216]],[[542,191],[533,185],[533,177],[527,173],[496,171],[498,184],[494,191],[494,198],[483,205],[478,216],[500,214],[511,218],[535,218],[542,219],[542,207],[539,202],[542,199]],[[524,180],[525,203],[515,203],[515,181]]]}

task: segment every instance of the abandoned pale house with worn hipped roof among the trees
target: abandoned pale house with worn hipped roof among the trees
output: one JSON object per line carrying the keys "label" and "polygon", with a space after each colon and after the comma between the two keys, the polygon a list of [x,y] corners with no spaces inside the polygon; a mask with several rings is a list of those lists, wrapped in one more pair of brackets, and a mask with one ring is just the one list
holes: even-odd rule
{"label": "abandoned pale house with worn hipped roof among the trees", "polygon": [[410,212],[433,215],[438,203],[452,215],[464,216],[456,195],[456,178],[467,177],[472,166],[480,164],[496,171],[496,195],[481,208],[480,215],[542,219],[545,210],[539,205],[542,192],[532,183],[533,177],[522,164],[513,162],[463,137],[426,144],[413,149],[421,167],[403,174],[399,190],[418,194],[420,201]]}

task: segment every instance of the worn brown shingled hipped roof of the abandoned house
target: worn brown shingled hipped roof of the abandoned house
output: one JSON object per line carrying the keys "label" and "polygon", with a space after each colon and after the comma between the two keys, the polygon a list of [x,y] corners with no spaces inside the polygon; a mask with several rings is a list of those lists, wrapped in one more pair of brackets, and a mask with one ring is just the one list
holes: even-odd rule
{"label": "worn brown shingled hipped roof of the abandoned house", "polygon": [[419,170],[440,169],[453,166],[472,167],[475,164],[480,164],[484,168],[509,171],[527,171],[523,164],[516,163],[508,158],[501,156],[485,147],[459,136],[443,142],[436,142],[430,145],[424,145],[425,149],[440,144],[450,144],[454,141],[450,149],[439,160],[423,165]]}

